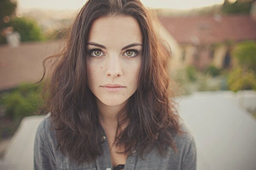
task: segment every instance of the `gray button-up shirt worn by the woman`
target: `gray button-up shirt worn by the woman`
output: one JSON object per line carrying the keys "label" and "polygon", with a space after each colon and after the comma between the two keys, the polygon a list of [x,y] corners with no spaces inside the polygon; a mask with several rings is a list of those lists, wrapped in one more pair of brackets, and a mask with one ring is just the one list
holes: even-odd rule
{"label": "gray button-up shirt worn by the woman", "polygon": [[[161,157],[154,148],[150,153],[143,155],[143,160],[135,151],[128,156],[125,170],[196,170],[195,140],[184,122],[181,124],[181,130],[187,133],[175,136],[177,153],[169,147],[168,154]],[[102,139],[106,139],[106,136]],[[113,170],[108,140],[105,140],[102,145],[101,156],[93,162],[78,166],[60,150],[55,150],[57,141],[54,131],[50,130],[50,119],[47,116],[38,126],[35,136],[34,170]]]}

